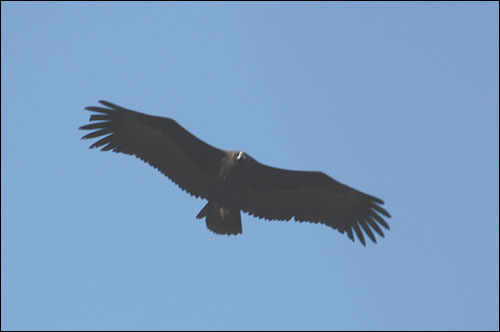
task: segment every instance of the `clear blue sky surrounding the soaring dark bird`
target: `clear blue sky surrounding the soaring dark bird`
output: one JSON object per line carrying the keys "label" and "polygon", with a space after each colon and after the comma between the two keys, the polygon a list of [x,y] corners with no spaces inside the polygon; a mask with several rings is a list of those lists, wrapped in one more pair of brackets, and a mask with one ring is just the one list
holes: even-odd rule
{"label": "clear blue sky surrounding the soaring dark bird", "polygon": [[[499,6],[2,2],[2,329],[499,328]],[[133,157],[99,99],[382,198],[352,243],[243,235]]]}

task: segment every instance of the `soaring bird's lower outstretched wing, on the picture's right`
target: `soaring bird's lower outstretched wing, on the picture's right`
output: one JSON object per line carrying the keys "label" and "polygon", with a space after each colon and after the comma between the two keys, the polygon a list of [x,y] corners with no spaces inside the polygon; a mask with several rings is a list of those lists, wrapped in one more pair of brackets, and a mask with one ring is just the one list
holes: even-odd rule
{"label": "soaring bird's lower outstretched wing, on the picture's right", "polygon": [[321,172],[291,171],[269,167],[250,159],[249,188],[241,197],[241,209],[268,220],[308,221],[321,223],[347,233],[354,233],[365,245],[364,234],[377,242],[380,226],[389,229],[382,216],[390,214],[381,207],[384,202],[364,194]]}

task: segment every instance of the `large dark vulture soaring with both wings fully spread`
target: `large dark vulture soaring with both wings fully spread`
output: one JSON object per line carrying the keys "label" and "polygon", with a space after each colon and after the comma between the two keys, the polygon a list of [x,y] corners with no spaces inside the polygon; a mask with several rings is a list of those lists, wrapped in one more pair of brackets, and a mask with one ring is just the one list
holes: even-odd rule
{"label": "large dark vulture soaring with both wings fully spread", "polygon": [[325,173],[266,166],[243,151],[217,149],[170,118],[99,102],[105,107],[86,107],[96,114],[80,127],[93,130],[82,138],[100,138],[90,148],[134,155],[189,194],[208,200],[196,218],[205,218],[214,233],[242,233],[240,211],[259,219],[321,223],[352,241],[356,233],[363,245],[364,234],[376,243],[374,232],[384,237],[380,226],[389,229],[382,216],[390,214],[381,199]]}

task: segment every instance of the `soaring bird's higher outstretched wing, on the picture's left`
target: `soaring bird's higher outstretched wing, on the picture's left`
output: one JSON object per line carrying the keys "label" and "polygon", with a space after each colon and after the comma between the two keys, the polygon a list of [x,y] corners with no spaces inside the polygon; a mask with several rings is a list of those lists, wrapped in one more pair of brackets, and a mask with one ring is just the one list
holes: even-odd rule
{"label": "soaring bird's higher outstretched wing, on the picture's left", "polygon": [[91,124],[80,127],[93,130],[84,139],[104,136],[90,148],[102,146],[102,151],[134,155],[190,194],[210,198],[223,150],[196,138],[172,119],[99,102],[106,107],[86,107],[96,114],[90,117]]}

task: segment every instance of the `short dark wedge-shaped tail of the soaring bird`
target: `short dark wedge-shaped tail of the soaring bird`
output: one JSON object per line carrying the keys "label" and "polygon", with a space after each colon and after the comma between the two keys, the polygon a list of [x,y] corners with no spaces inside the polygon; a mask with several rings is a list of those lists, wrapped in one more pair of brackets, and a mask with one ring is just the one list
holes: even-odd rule
{"label": "short dark wedge-shaped tail of the soaring bird", "polygon": [[200,213],[198,219],[206,218],[207,228],[216,234],[241,234],[240,210],[224,208],[216,203],[208,202]]}

